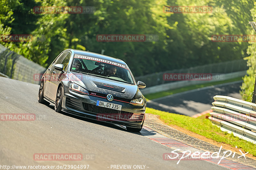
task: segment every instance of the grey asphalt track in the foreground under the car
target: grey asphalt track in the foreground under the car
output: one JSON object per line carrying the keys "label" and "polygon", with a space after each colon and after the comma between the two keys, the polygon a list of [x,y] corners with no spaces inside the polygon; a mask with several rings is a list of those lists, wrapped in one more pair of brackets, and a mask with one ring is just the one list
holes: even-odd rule
{"label": "grey asphalt track in the foreground under the car", "polygon": [[[227,169],[202,160],[163,160],[172,149],[121,126],[54,111],[37,102],[39,85],[0,77],[0,113],[35,114],[34,121],[0,121],[0,165],[146,165],[145,169]],[[80,161],[36,161],[35,153],[82,153]],[[143,167],[143,166],[142,166]],[[2,169],[2,168],[1,168]],[[73,168],[74,169],[74,168]],[[112,168],[113,169],[113,168]],[[133,169],[133,168],[132,168]]]}

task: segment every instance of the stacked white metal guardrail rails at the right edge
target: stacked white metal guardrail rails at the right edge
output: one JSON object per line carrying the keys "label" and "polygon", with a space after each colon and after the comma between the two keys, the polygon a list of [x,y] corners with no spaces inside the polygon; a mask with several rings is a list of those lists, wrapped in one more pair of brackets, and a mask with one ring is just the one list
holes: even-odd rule
{"label": "stacked white metal guardrail rails at the right edge", "polygon": [[256,144],[256,104],[228,96],[213,97],[209,119],[222,131]]}

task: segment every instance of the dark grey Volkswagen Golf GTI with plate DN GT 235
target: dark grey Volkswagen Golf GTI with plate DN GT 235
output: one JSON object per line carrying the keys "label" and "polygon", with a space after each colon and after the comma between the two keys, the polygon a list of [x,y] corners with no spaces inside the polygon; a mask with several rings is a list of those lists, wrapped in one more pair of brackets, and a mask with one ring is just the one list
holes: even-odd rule
{"label": "dark grey Volkswagen Golf GTI with plate DN GT 235", "polygon": [[92,52],[66,49],[42,76],[38,102],[55,111],[142,129],[146,99],[131,70],[122,60]]}

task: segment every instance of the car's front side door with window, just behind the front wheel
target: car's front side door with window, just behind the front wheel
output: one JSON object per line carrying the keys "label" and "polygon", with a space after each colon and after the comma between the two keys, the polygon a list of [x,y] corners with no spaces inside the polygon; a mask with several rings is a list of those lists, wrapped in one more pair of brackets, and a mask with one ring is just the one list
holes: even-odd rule
{"label": "car's front side door with window, just behind the front wheel", "polygon": [[[65,51],[62,58],[60,58],[59,61],[57,61],[56,64],[63,64],[63,70],[67,70],[69,59],[71,56],[71,52]],[[52,71],[52,77],[51,77],[51,83],[50,83],[50,93],[51,93],[51,100],[55,101],[56,94],[57,94],[57,88],[60,82],[60,77],[63,73],[59,70],[56,70],[53,68]],[[64,73],[65,74],[65,73]]]}

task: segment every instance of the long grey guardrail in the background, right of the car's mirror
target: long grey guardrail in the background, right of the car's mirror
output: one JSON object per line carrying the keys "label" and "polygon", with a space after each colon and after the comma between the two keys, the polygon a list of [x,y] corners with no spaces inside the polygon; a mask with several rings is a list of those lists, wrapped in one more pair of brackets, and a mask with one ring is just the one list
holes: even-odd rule
{"label": "long grey guardrail in the background, right of the car's mirror", "polygon": [[177,89],[181,87],[186,87],[190,85],[200,85],[200,84],[205,84],[205,83],[211,83],[211,82],[216,82],[216,81],[222,81],[222,80],[228,80],[232,78],[237,78],[237,77],[243,77],[246,74],[246,70],[244,71],[237,71],[233,73],[227,73],[227,74],[218,74],[212,76],[212,80],[182,80],[182,81],[176,81],[173,83],[166,83],[162,85],[155,85],[152,87],[146,87],[145,89],[141,89],[140,91],[145,95],[145,94],[150,94],[150,93],[157,93],[157,92],[164,92],[167,90],[172,90],[172,89]]}

